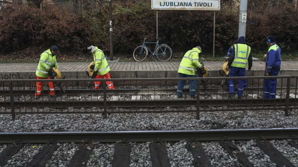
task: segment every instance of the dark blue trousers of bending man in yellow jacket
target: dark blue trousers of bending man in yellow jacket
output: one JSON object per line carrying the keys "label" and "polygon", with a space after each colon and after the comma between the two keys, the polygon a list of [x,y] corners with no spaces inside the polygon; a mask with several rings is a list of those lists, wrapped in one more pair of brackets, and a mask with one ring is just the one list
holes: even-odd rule
{"label": "dark blue trousers of bending man in yellow jacket", "polygon": [[[195,75],[187,75],[179,73],[179,78],[195,78]],[[179,81],[177,86],[177,97],[182,97],[183,87],[185,85],[186,80]],[[195,96],[195,88],[197,86],[197,80],[189,81],[189,95]]]}

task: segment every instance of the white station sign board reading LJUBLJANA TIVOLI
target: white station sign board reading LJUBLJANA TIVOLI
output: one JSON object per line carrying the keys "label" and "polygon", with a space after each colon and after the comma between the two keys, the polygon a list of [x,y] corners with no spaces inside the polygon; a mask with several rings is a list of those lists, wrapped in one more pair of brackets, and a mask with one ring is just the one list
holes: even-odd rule
{"label": "white station sign board reading LJUBLJANA TIVOLI", "polygon": [[151,0],[153,10],[220,10],[220,0]]}

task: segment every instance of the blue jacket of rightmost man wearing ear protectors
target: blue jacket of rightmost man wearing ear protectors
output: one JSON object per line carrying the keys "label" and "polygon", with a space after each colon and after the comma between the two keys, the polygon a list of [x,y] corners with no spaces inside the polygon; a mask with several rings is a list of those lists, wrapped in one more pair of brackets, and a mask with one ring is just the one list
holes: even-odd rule
{"label": "blue jacket of rightmost man wearing ear protectors", "polygon": [[[276,45],[275,42],[273,45]],[[271,45],[271,47],[273,45]],[[276,47],[278,46],[276,45]],[[269,52],[267,52],[267,56],[266,56],[267,70],[266,71],[268,73],[271,72],[272,68],[280,66],[280,63],[281,63],[280,52],[281,52],[280,47],[278,47],[276,51],[274,49],[271,49]]]}

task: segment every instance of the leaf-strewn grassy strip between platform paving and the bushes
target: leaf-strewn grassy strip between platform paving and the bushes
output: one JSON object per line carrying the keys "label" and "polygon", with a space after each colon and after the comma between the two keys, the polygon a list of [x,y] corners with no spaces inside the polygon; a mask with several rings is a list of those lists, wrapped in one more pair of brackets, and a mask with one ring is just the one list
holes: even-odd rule
{"label": "leaf-strewn grassy strip between platform paving and the bushes", "polygon": [[[184,53],[173,53],[172,57],[168,62],[180,62],[181,58],[184,56]],[[226,56],[225,54],[222,55],[215,55],[215,59],[213,59],[212,54],[201,54],[200,58],[204,58],[201,61],[223,61],[222,57]],[[38,63],[39,59],[13,59],[9,58],[10,56],[0,56],[0,63]],[[114,57],[117,59],[120,57],[119,62],[135,62],[132,54],[115,54]],[[263,60],[263,53],[253,53],[253,57],[257,59]],[[297,53],[285,53],[281,55],[283,61],[298,61],[298,52]],[[57,56],[58,62],[91,62],[93,61],[90,59],[91,56],[87,58],[77,58],[72,56]],[[108,57],[109,60],[109,57]],[[148,54],[146,59],[143,62],[159,62],[156,56]]]}

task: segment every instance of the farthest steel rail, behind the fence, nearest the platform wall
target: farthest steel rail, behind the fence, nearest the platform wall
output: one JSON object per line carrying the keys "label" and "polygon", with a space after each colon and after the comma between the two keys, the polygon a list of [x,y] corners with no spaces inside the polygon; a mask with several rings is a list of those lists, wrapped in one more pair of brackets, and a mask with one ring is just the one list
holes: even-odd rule
{"label": "farthest steel rail, behind the fence, nearest the platform wall", "polygon": [[[249,87],[245,88],[243,93],[253,92],[257,93],[261,87]],[[205,94],[205,89],[200,88],[200,94]],[[286,91],[287,87],[277,87],[276,92]],[[13,95],[34,95],[35,89],[25,89],[25,90],[13,90]],[[55,89],[55,91],[60,91],[60,89]],[[95,95],[100,94],[103,95],[103,89],[94,90],[94,89],[65,89],[67,95],[77,95],[77,94],[86,94],[86,95]],[[291,92],[296,91],[296,87],[290,88]],[[152,94],[173,94],[176,93],[176,88],[162,88],[162,89],[107,89],[107,95],[129,95],[129,94],[139,94],[139,95],[152,95]],[[219,94],[222,93],[229,93],[229,88],[207,88],[207,93],[215,93],[218,92]],[[10,90],[0,90],[0,94],[9,95]],[[42,94],[49,94],[49,90],[42,90]],[[183,90],[183,94],[189,94],[189,88]]]}

